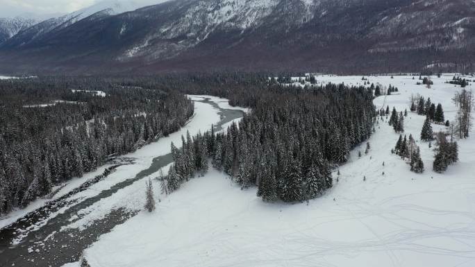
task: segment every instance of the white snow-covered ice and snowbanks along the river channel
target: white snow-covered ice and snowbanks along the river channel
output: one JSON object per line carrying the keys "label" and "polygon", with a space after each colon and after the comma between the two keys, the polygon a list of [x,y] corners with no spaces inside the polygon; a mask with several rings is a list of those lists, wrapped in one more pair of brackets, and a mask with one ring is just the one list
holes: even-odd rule
{"label": "white snow-covered ice and snowbanks along the river channel", "polygon": [[[124,166],[119,166],[114,173],[111,173],[108,178],[105,180],[101,180],[96,184],[93,184],[90,188],[85,191],[81,191],[79,193],[74,194],[74,196],[70,197],[70,200],[75,200],[71,205],[75,203],[79,203],[81,200],[85,198],[90,198],[96,196],[97,193],[110,189],[115,184],[127,180],[129,178],[135,177],[137,173],[140,171],[147,169],[152,161],[153,158],[158,157],[160,155],[167,155],[170,152],[170,144],[172,141],[176,146],[179,148],[181,147],[181,136],[186,135],[187,131],[190,131],[191,135],[196,135],[198,132],[204,132],[211,128],[212,124],[216,124],[219,122],[219,110],[208,103],[194,103],[194,116],[188,121],[188,123],[178,130],[178,132],[174,132],[168,137],[160,138],[158,141],[148,144],[140,148],[139,150],[135,151],[134,153],[129,153],[122,157],[125,158],[133,158],[133,164],[128,164]],[[52,199],[59,198],[60,196],[64,196],[66,193],[71,191],[72,189],[80,186],[83,182],[88,180],[89,178],[93,178],[95,175],[99,175],[103,172],[110,165],[101,166],[97,171],[92,173],[88,173],[83,176],[83,178],[74,178],[67,182],[67,184],[62,184],[60,191],[53,196]],[[150,175],[151,177],[156,176],[157,173],[153,173]],[[71,221],[74,221],[69,227],[65,228],[82,228],[87,225],[90,225],[92,221],[97,219],[103,218],[106,216],[111,209],[114,208],[125,208],[125,209],[140,209],[142,207],[141,199],[138,198],[138,195],[142,193],[142,185],[143,180],[139,180],[132,184],[129,187],[126,187],[122,190],[117,191],[117,193],[113,194],[108,198],[100,200],[99,203],[95,203],[94,207],[88,207],[86,209],[82,209],[78,212],[77,215],[80,215],[81,218],[76,221],[77,217],[71,218]],[[139,193],[140,191],[140,193]],[[19,218],[25,216],[28,212],[32,212],[39,207],[42,207],[47,203],[49,199],[39,199],[35,200],[31,205],[28,205],[25,209],[19,209],[15,212],[8,214],[8,216],[0,218],[0,228],[10,225],[11,223],[17,221]],[[57,216],[58,214],[64,212],[67,208],[71,205],[60,209],[58,212],[51,214],[48,218],[44,221],[40,221],[35,225],[31,225],[28,229],[19,230],[19,232],[23,232],[23,234],[17,236],[14,240],[14,243],[19,243],[22,241],[24,236],[33,230],[38,230],[42,227],[42,225],[46,224],[51,218]]]}

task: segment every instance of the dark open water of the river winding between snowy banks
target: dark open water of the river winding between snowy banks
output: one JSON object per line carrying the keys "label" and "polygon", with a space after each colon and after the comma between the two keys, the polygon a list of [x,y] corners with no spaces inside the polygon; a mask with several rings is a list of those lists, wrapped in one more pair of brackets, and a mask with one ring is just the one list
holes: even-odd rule
{"label": "dark open water of the river winding between snowy banks", "polygon": [[[221,120],[215,125],[215,130],[222,130],[224,123],[228,123],[233,119],[242,117],[243,113],[240,110],[224,110],[219,108],[216,103],[209,101],[209,99],[200,101],[213,105],[213,107],[219,109],[219,115]],[[109,169],[114,171],[117,166],[124,164],[130,164],[131,159],[124,157],[124,162],[114,164]],[[140,180],[152,173],[156,173],[163,166],[172,162],[172,155],[162,155],[153,159],[149,168],[144,169],[137,173],[134,178],[124,180],[115,184],[110,189],[99,192],[96,196],[81,200],[76,204],[74,200],[70,200],[71,196],[74,196],[78,191],[87,189],[88,186],[84,186],[82,190],[72,191],[67,196],[55,200],[48,205],[31,212],[13,223],[9,227],[5,227],[0,230],[0,266],[63,266],[68,262],[78,261],[81,258],[81,254],[85,248],[94,243],[101,234],[110,232],[116,225],[124,223],[131,218],[137,212],[126,212],[122,209],[116,209],[110,212],[106,218],[95,221],[92,225],[86,229],[79,230],[65,230],[60,232],[61,227],[69,225],[71,223],[69,218],[74,216],[79,210],[94,205],[103,198],[108,198],[114,193],[128,187],[133,182]],[[107,175],[105,175],[107,176]],[[102,178],[106,179],[106,177]],[[94,181],[94,182],[98,182]],[[22,243],[17,246],[12,246],[12,239],[15,239],[20,233],[18,229],[27,229],[35,223],[41,222],[44,218],[48,217],[52,212],[58,211],[62,207],[68,207],[65,212],[58,214],[56,217],[51,218],[46,225],[43,225],[38,230],[29,232]],[[48,239],[47,237],[50,236]],[[45,239],[47,239],[45,241]],[[33,248],[28,252],[28,248]],[[39,252],[36,252],[38,249]]]}

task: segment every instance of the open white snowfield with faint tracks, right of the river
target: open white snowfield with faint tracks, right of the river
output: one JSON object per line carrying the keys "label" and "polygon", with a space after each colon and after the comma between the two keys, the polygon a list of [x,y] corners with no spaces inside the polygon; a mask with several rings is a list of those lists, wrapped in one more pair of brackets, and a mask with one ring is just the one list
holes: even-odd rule
{"label": "open white snowfield with faint tracks, right of the river", "polygon": [[[431,89],[415,85],[418,77],[412,76],[369,76],[369,81],[399,87],[399,93],[376,98],[376,107],[409,110],[410,94],[419,93],[442,103],[452,121],[451,97],[460,89],[444,83],[452,76],[433,77]],[[361,76],[317,80],[363,83]],[[406,135],[418,140],[423,121],[410,112]],[[421,141],[426,171],[410,172],[390,153],[398,137],[379,121],[368,155],[358,158],[365,144],[353,150],[338,182],[334,173],[333,189],[308,204],[263,203],[255,188],[242,191],[214,170],[167,197],[155,182],[156,199],[162,200],[156,211],[141,212],[103,234],[85,250],[85,259],[92,267],[474,266],[474,137],[458,141],[460,162],[443,174],[431,171],[433,150]],[[144,202],[144,184],[140,187],[131,192],[138,207]]]}

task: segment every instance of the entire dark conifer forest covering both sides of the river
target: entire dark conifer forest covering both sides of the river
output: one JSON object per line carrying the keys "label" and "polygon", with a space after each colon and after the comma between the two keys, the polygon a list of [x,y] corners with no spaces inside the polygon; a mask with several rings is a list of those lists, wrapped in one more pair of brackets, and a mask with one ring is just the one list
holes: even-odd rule
{"label": "entire dark conifer forest covering both sides of the river", "polygon": [[251,107],[224,132],[183,138],[164,178],[174,191],[206,172],[208,160],[263,200],[315,198],[331,188],[331,171],[372,134],[371,88],[280,85],[264,74],[135,77],[40,77],[0,81],[0,213],[51,193],[178,130],[208,94]]}

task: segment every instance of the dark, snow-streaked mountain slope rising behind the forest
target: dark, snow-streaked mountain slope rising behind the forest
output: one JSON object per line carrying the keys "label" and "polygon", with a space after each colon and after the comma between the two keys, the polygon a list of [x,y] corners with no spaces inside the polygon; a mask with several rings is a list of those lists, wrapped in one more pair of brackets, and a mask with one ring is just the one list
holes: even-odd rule
{"label": "dark, snow-streaked mountain slope rising behind the forest", "polygon": [[474,1],[175,0],[99,10],[11,38],[0,70],[37,69],[23,61],[31,58],[43,71],[420,71],[469,69],[475,54]]}

